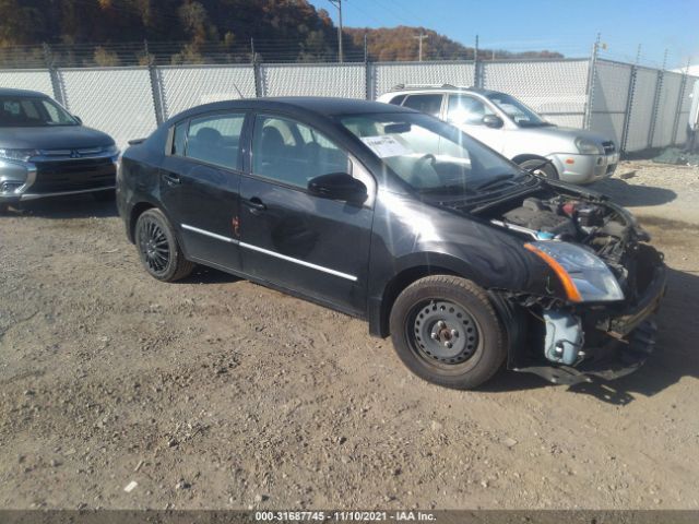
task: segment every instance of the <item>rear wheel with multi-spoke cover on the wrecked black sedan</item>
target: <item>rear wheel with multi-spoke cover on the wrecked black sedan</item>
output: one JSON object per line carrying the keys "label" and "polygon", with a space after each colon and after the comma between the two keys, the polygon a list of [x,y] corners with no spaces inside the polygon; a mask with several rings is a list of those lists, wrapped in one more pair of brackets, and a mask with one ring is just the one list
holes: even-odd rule
{"label": "rear wheel with multi-spoke cover on the wrecked black sedan", "polygon": [[161,210],[151,209],[135,223],[135,246],[145,271],[163,282],[175,282],[188,276],[193,262],[185,259],[175,230]]}

